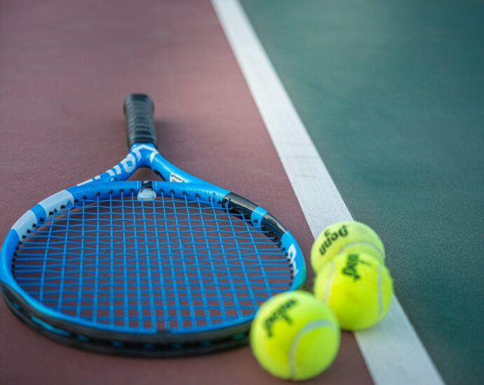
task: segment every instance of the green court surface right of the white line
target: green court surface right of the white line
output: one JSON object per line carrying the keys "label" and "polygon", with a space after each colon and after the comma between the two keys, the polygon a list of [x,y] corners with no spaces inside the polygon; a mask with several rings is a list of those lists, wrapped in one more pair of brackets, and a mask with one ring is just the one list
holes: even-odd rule
{"label": "green court surface right of the white line", "polygon": [[445,381],[482,379],[482,3],[242,3]]}

